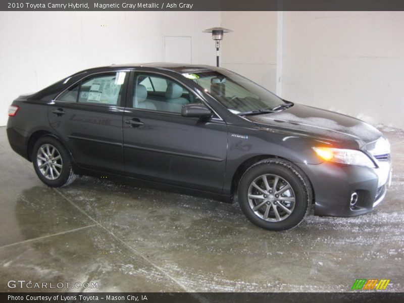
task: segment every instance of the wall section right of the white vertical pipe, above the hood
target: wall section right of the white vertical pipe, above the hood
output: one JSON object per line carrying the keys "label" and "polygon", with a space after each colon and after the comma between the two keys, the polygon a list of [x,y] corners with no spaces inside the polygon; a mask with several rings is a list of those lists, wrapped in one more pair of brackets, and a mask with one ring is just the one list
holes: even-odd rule
{"label": "wall section right of the white vertical pipe, above the hood", "polygon": [[284,12],[282,97],[404,128],[404,12]]}

